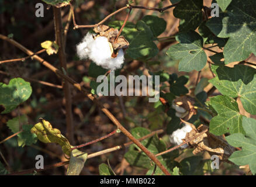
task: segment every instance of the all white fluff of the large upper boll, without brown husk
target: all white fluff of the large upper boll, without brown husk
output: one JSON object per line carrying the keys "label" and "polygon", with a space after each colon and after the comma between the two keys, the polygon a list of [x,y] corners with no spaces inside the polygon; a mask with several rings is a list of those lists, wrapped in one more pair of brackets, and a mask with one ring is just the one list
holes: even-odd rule
{"label": "all white fluff of the large upper boll, without brown husk", "polygon": [[94,40],[91,33],[87,33],[82,42],[77,45],[77,54],[79,58],[90,58],[95,64],[108,70],[121,68],[124,61],[123,49],[118,51],[116,58],[112,58],[108,39],[99,36]]}

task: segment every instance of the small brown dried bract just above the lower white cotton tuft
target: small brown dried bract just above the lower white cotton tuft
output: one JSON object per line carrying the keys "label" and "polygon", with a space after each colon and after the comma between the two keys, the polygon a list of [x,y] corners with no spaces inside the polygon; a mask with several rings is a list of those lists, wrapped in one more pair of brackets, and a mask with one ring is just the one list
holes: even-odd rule
{"label": "small brown dried bract just above the lower white cotton tuft", "polygon": [[183,120],[187,121],[191,119],[193,115],[196,115],[196,110],[193,108],[195,102],[189,96],[180,96],[174,99],[174,103],[188,111],[188,114],[182,118]]}

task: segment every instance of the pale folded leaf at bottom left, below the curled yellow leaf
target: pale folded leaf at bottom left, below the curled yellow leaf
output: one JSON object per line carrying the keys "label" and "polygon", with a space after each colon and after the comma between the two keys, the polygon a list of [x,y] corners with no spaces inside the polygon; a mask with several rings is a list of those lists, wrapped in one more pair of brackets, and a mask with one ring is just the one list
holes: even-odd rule
{"label": "pale folded leaf at bottom left, below the curled yellow leaf", "polygon": [[84,168],[85,161],[87,161],[87,153],[77,149],[72,150],[67,175],[79,175]]}

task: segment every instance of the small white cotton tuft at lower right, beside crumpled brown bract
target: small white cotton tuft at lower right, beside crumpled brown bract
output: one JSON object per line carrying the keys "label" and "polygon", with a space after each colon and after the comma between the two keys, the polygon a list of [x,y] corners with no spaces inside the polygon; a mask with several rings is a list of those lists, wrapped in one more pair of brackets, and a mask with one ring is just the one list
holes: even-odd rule
{"label": "small white cotton tuft at lower right, beside crumpled brown bract", "polygon": [[[192,127],[189,124],[185,124],[184,127],[181,129],[175,130],[170,136],[169,136],[169,141],[175,145],[182,144],[184,139],[186,137],[186,133],[189,133],[192,130]],[[188,144],[184,144],[181,146],[181,148],[186,148],[188,147]]]}

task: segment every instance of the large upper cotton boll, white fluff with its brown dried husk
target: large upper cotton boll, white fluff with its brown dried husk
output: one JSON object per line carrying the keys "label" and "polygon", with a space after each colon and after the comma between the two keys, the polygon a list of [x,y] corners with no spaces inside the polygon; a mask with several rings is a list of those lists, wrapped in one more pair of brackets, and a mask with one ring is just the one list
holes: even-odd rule
{"label": "large upper cotton boll, white fluff with its brown dried husk", "polygon": [[[123,36],[119,36],[120,40],[115,41],[118,30],[109,28],[103,25],[94,29],[96,34],[88,32],[77,45],[77,54],[80,59],[89,58],[102,68],[114,71],[122,67],[124,49],[129,43]],[[127,42],[126,46],[122,45],[123,39]]]}

